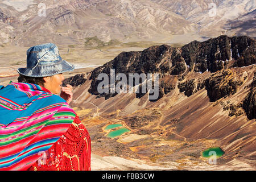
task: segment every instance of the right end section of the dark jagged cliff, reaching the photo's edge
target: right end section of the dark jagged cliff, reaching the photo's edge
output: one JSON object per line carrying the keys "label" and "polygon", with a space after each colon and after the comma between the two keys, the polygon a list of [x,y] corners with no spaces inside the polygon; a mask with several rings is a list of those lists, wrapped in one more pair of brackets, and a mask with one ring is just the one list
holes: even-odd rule
{"label": "right end section of the dark jagged cliff, reaching the photo's edge", "polygon": [[243,67],[255,64],[255,40],[248,36],[234,36],[229,38],[222,35],[205,42],[193,41],[183,47],[182,57],[189,71],[216,72],[224,68],[226,61],[236,60],[234,67]]}

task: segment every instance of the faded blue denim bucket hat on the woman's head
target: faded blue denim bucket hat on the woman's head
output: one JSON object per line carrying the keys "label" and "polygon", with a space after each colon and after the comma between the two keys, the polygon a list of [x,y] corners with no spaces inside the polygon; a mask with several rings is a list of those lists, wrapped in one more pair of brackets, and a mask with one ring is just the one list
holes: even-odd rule
{"label": "faded blue denim bucket hat on the woman's head", "polygon": [[75,65],[61,59],[59,49],[53,43],[33,46],[27,50],[27,68],[17,72],[28,77],[46,77],[73,71]]}

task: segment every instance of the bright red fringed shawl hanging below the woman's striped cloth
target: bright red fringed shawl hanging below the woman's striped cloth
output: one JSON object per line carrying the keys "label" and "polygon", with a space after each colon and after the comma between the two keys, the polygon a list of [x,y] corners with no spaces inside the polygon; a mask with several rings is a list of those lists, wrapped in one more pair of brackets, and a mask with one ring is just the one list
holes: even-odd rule
{"label": "bright red fringed shawl hanging below the woman's striped cloth", "polygon": [[90,136],[76,115],[67,132],[29,171],[90,171]]}

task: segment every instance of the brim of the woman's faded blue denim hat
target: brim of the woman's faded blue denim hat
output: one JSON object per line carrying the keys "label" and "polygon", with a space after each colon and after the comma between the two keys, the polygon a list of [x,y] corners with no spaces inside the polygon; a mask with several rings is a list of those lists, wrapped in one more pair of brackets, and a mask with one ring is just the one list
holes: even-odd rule
{"label": "brim of the woman's faded blue denim hat", "polygon": [[75,65],[65,60],[51,65],[37,65],[34,68],[19,68],[17,72],[28,77],[46,77],[53,76],[64,72],[70,72],[75,69]]}

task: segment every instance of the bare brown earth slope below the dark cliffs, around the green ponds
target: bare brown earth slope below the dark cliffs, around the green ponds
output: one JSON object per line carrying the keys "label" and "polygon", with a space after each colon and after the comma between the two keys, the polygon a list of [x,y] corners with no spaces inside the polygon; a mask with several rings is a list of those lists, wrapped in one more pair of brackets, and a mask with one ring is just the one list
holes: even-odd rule
{"label": "bare brown earth slope below the dark cliffs, around the green ponds", "polygon": [[[234,79],[243,80],[243,83],[237,86],[236,93],[214,102],[210,101],[205,88],[188,97],[180,93],[177,84],[156,102],[148,101],[147,95],[136,98],[135,93],[117,94],[105,100],[87,92],[90,87],[88,75],[88,80],[75,88],[75,100],[71,105],[79,105],[79,110],[91,109],[82,119],[95,142],[92,143],[94,154],[141,159],[162,167],[170,167],[169,164],[175,162],[179,169],[206,165],[202,169],[226,166],[226,169],[236,170],[249,166],[255,170],[255,118],[248,119],[241,106],[238,107],[240,114],[230,116],[233,109],[230,105],[241,104],[250,92],[255,65],[230,71],[236,75]],[[204,79],[213,74],[222,75],[222,71],[191,72],[184,80]],[[102,128],[112,123],[123,123],[131,131],[110,139]],[[125,138],[131,134],[141,137],[127,141]],[[203,150],[213,146],[225,151],[216,167],[209,166],[207,159],[201,157]],[[234,167],[235,163],[241,168]]]}

